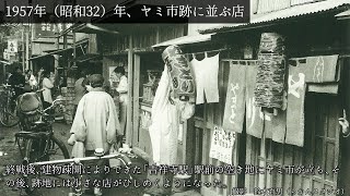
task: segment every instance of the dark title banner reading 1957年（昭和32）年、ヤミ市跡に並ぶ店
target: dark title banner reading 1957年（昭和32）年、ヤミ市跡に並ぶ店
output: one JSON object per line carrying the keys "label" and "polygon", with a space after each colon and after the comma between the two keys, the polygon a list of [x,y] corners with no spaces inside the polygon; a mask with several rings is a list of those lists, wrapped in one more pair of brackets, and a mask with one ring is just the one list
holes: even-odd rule
{"label": "dark title banner reading 1957\u5e74\uff08\u662d\u548c32\uff09\u5e74\u3001\u30e4\u30df\u5e02\u8de1\u306b\u4e26\u3076\u5e97", "polygon": [[[27,20],[36,17],[38,21],[61,23],[67,21],[91,22],[92,19],[108,17],[112,23],[247,23],[249,22],[249,1],[231,0],[140,0],[135,2],[80,1],[75,4],[47,3],[38,0],[33,4],[9,3],[4,8],[4,17]],[[113,14],[108,12],[113,10]],[[52,17],[48,17],[52,15]],[[118,20],[121,19],[121,20]],[[105,21],[106,22],[106,21]]]}

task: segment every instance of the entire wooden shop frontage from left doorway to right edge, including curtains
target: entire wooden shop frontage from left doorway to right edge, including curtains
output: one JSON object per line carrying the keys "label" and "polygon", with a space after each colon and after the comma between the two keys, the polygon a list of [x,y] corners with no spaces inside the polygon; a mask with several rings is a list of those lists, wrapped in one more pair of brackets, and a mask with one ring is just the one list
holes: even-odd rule
{"label": "entire wooden shop frontage from left doorway to right edge, including curtains", "polygon": [[[276,5],[268,7],[271,3]],[[349,182],[346,171],[349,169],[350,161],[348,156],[343,156],[349,149],[349,140],[342,138],[338,119],[343,117],[343,113],[349,115],[350,109],[349,90],[347,90],[350,45],[347,38],[349,22],[339,21],[336,15],[347,11],[349,2],[329,0],[308,3],[281,1],[279,4],[262,0],[255,2],[252,4],[252,12],[254,12],[252,23],[202,30],[201,34],[206,38],[199,41],[194,41],[195,38],[188,41],[188,24],[104,25],[100,30],[82,28],[79,32],[96,35],[96,51],[103,56],[103,75],[109,79],[110,85],[113,85],[113,70],[116,66],[125,68],[130,97],[127,143],[145,160],[151,160],[152,157],[148,126],[152,96],[156,87],[154,82],[164,68],[161,54],[167,46],[179,45],[189,61],[192,58],[201,61],[217,54],[220,57],[219,101],[196,105],[195,117],[183,124],[179,137],[175,138],[179,144],[179,163],[196,166],[197,169],[205,166],[223,170],[213,174],[192,173],[192,176],[201,182],[219,180],[226,186],[225,188],[201,186],[202,195],[226,196],[232,194],[234,187],[237,187],[237,192],[242,191],[250,195],[256,188],[265,187],[278,187],[282,195],[291,189],[301,188],[305,192],[315,188],[337,191],[338,187],[346,188],[345,184]],[[240,103],[243,106],[237,110],[237,115],[241,117],[241,130],[237,132],[224,130],[234,134],[232,137],[234,145],[229,148],[231,160],[221,161],[220,158],[213,158],[211,147],[215,127],[225,126],[225,110],[228,101],[232,100],[228,99],[230,81],[241,82],[244,89],[247,89],[247,86],[250,89],[255,86],[250,81],[256,78],[256,68],[261,61],[259,51],[261,35],[265,33],[273,33],[284,39],[284,90],[288,95],[293,84],[301,82],[301,78],[289,75],[290,68],[311,65],[310,60],[316,59],[316,62],[318,60],[318,65],[322,64],[320,62],[331,62],[328,65],[323,64],[323,68],[331,68],[334,78],[326,82],[303,83],[305,85],[303,105],[290,101],[290,108],[287,106],[284,110],[276,113],[275,111],[264,112],[262,118],[259,110],[256,110],[252,97],[246,96],[246,90],[242,91],[245,97],[235,99],[241,99]],[[232,68],[235,66],[242,68],[241,75],[232,72]],[[311,78],[313,74],[315,74],[313,71],[304,73],[305,77]],[[299,89],[295,88],[295,90]],[[293,122],[293,118],[288,119],[291,117],[288,112],[294,111],[293,108],[298,107],[300,109],[292,114],[303,118],[302,120],[296,118],[299,120]],[[250,127],[253,117],[262,122],[259,132]],[[275,121],[277,118],[279,119]],[[293,132],[290,127],[295,124],[300,126]],[[238,166],[242,168],[237,168]],[[247,170],[246,166],[252,167]],[[285,171],[285,167],[291,170],[292,166],[308,167],[308,169],[314,167],[313,171],[316,174],[278,172],[279,168]],[[271,173],[258,170],[269,167],[275,167]],[[320,173],[317,173],[318,171]],[[346,193],[349,193],[349,189],[346,189]]]}

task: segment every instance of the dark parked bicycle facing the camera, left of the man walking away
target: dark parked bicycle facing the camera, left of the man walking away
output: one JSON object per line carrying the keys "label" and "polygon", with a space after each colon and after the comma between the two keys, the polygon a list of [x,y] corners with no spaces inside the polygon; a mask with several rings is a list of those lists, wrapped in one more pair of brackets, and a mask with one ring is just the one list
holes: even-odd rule
{"label": "dark parked bicycle facing the camera, left of the man walking away", "polygon": [[[24,94],[23,96],[36,95],[35,93]],[[39,101],[39,100],[38,100]],[[58,139],[52,130],[52,123],[55,122],[55,117],[52,110],[57,102],[57,99],[52,102],[50,107],[42,110],[40,107],[32,111],[23,112],[23,115],[28,115],[31,118],[39,115],[39,120],[35,122],[28,122],[27,119],[21,118],[20,115],[20,127],[21,131],[15,133],[15,143],[20,148],[21,156],[23,158],[23,166],[27,166],[31,162],[37,161],[48,161],[48,160],[60,160],[69,159],[69,152],[60,139]],[[23,175],[26,183],[32,181],[30,175]],[[25,188],[27,194],[32,194],[34,189],[31,187]]]}

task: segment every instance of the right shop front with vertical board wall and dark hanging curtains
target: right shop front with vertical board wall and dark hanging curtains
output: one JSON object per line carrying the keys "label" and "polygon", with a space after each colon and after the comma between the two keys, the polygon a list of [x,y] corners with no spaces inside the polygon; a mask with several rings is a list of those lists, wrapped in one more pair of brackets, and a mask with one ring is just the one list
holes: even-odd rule
{"label": "right shop front with vertical board wall and dark hanging curtains", "polygon": [[[256,9],[259,9],[259,7],[261,4]],[[324,10],[317,12],[313,9],[314,13],[310,14],[307,13],[308,7],[324,8]],[[267,9],[268,7],[264,8]],[[296,9],[303,10],[305,13],[296,14]],[[257,122],[253,122],[253,120],[254,117],[261,117],[261,113],[256,111],[252,99],[246,98],[249,98],[248,93],[242,93],[244,98],[236,97],[237,102],[243,103],[244,107],[237,107],[238,109],[236,109],[238,113],[243,113],[243,120],[240,121],[243,130],[235,133],[236,139],[232,151],[232,164],[235,167],[235,171],[234,174],[229,175],[215,172],[213,175],[201,174],[199,179],[203,182],[220,180],[228,186],[228,188],[202,186],[201,193],[203,195],[230,195],[233,187],[240,187],[241,189],[237,188],[237,192],[247,194],[257,193],[258,188],[275,188],[275,191],[280,188],[278,191],[282,195],[287,195],[291,191],[295,191],[296,194],[300,189],[303,189],[304,194],[315,189],[318,193],[329,189],[334,191],[332,194],[335,195],[337,191],[341,192],[337,188],[345,188],[346,193],[349,192],[345,185],[348,182],[345,173],[347,173],[349,167],[348,156],[346,155],[349,142],[342,137],[338,124],[338,119],[343,117],[343,111],[348,112],[347,106],[349,102],[347,96],[349,91],[347,89],[349,72],[349,41],[347,35],[349,34],[349,24],[346,21],[338,21],[335,16],[348,10],[349,2],[324,1],[300,5],[296,9],[283,10],[283,12],[279,12],[280,14],[272,12],[262,14],[262,16],[257,15],[247,25],[225,26],[201,32],[205,34],[215,33],[211,41],[221,42],[231,50],[226,51],[228,56],[222,56],[223,58],[220,60],[220,102],[205,103],[203,110],[194,118],[196,133],[195,164],[225,168],[225,162],[212,159],[209,156],[213,131],[215,126],[224,126],[225,121],[228,121],[224,114],[228,107],[226,102],[232,100],[226,96],[231,90],[230,77],[241,81],[241,86],[246,89],[256,85],[252,84],[255,81],[256,73],[252,75],[247,70],[252,71],[252,66],[258,66],[264,61],[260,52],[261,35],[265,33],[276,33],[284,37],[285,53],[283,54],[288,70],[285,72],[285,90],[289,105],[285,109],[287,114],[280,110],[277,114],[273,114],[273,112],[264,113],[262,119],[265,120],[261,120],[261,118],[255,119],[262,122],[262,127],[258,127],[255,126]],[[291,15],[284,19],[287,17],[284,14]],[[328,61],[329,58],[336,60],[330,62]],[[296,89],[295,93],[300,93],[296,85],[302,79],[298,78],[292,70],[301,64],[313,66],[312,63],[316,63],[314,66],[322,68],[323,72],[317,69],[305,72],[304,103],[295,103],[292,100],[292,90]],[[238,66],[240,69],[237,69]],[[230,72],[234,68],[236,70]],[[334,79],[307,82],[307,77],[317,77],[317,73],[319,76],[319,74],[329,73],[331,69],[335,71],[334,73],[337,72]],[[302,71],[300,72],[302,73]],[[242,81],[245,82],[242,83]],[[242,99],[242,102],[240,102],[240,99]],[[300,111],[296,111],[298,107],[302,107]],[[292,117],[291,113],[298,117]],[[299,120],[300,117],[303,117],[302,120]],[[296,132],[291,128],[295,127],[295,124],[300,125]],[[260,131],[257,132],[257,128],[260,128]],[[269,167],[275,169],[267,172],[266,169]],[[296,170],[298,167],[300,167],[299,170]],[[304,168],[301,169],[301,167]],[[225,171],[229,170],[225,169]],[[296,174],[298,172],[301,173]],[[311,174],[313,172],[315,174]]]}

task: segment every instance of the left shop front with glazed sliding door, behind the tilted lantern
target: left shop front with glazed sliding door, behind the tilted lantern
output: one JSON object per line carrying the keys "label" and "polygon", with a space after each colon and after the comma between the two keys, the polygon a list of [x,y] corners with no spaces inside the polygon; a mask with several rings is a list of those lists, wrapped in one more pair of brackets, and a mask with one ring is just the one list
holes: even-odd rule
{"label": "left shop front with glazed sliding door, behind the tilted lantern", "polygon": [[[152,148],[148,126],[158,81],[164,69],[162,51],[152,46],[187,34],[187,24],[91,25],[74,32],[96,35],[97,53],[103,57],[103,75],[112,88],[118,84],[114,69],[122,66],[128,77],[127,143],[145,160]],[[185,126],[185,125],[184,125]],[[186,150],[179,147],[180,156]],[[183,162],[183,160],[179,160]]]}

